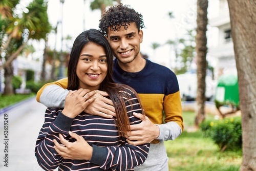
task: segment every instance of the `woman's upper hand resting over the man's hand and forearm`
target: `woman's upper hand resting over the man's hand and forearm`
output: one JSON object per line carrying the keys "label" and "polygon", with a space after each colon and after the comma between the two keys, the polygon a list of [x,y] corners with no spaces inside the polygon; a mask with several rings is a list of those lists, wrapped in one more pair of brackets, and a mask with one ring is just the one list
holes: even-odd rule
{"label": "woman's upper hand resting over the man's hand and forearm", "polygon": [[96,93],[97,91],[90,91],[88,89],[70,91],[66,97],[62,113],[67,117],[75,118],[96,99],[96,96],[94,96]]}

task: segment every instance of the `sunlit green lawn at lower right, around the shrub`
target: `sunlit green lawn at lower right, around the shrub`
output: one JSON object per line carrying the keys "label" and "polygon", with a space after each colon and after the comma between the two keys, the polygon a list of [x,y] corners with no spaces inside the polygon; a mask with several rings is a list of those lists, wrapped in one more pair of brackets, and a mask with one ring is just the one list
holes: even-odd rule
{"label": "sunlit green lawn at lower right, around the shrub", "polygon": [[[195,113],[183,113],[184,124],[193,126]],[[212,116],[207,116],[212,118]],[[236,171],[242,163],[242,151],[223,152],[210,138],[202,132],[187,132],[174,141],[166,141],[165,146],[169,157],[169,170],[172,171]]]}

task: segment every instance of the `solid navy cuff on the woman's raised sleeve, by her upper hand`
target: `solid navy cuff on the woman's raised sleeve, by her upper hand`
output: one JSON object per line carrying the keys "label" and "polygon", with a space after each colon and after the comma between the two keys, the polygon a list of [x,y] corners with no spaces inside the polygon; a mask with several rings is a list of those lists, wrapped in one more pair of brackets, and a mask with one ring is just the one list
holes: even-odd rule
{"label": "solid navy cuff on the woman's raised sleeve, by her upper hand", "polygon": [[66,115],[62,114],[62,112],[59,112],[58,116],[56,117],[53,123],[61,131],[69,132],[73,120],[73,118],[67,117]]}

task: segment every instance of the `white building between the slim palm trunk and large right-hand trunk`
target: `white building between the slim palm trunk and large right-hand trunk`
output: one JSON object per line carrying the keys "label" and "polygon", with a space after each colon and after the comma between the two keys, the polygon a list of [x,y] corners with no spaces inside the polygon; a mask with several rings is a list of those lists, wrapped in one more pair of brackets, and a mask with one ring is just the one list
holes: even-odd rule
{"label": "white building between the slim palm trunk and large right-hand trunk", "polygon": [[209,55],[216,59],[215,78],[223,74],[237,75],[227,0],[219,0],[217,15],[209,18],[209,25],[217,28],[218,43],[209,47]]}

